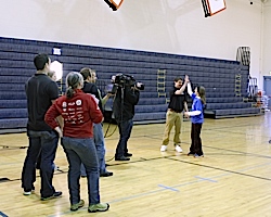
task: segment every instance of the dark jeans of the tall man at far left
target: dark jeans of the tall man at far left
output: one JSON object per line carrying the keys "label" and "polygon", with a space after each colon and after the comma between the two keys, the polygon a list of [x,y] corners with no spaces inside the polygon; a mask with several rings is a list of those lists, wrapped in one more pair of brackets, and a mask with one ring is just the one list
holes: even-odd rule
{"label": "dark jeans of the tall man at far left", "polygon": [[55,190],[52,186],[55,152],[59,135],[55,131],[27,131],[29,146],[22,171],[22,188],[31,191],[36,181],[36,163],[40,154],[41,197],[51,196]]}

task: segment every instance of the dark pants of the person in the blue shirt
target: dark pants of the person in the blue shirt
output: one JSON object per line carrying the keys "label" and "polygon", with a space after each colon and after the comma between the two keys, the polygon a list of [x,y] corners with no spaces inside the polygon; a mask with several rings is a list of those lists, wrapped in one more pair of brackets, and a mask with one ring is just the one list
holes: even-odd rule
{"label": "dark pants of the person in the blue shirt", "polygon": [[203,155],[202,139],[201,139],[202,126],[203,124],[192,123],[192,129],[191,129],[192,142],[190,146],[190,152],[197,155]]}

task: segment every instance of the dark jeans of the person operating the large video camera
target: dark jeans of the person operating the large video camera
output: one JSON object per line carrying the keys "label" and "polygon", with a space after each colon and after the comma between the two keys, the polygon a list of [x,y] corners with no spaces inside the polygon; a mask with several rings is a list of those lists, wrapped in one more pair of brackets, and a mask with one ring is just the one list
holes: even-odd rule
{"label": "dark jeans of the person operating the large video camera", "polygon": [[118,131],[119,131],[119,141],[118,141],[116,154],[115,154],[116,158],[125,156],[125,154],[128,153],[127,142],[132,131],[133,122],[132,119],[128,119],[128,120],[122,120],[117,124],[118,124]]}

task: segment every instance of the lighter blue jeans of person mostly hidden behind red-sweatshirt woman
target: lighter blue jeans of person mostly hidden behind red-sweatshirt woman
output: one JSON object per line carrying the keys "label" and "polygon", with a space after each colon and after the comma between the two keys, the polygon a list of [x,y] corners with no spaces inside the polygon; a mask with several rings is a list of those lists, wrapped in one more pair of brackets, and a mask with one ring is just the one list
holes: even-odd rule
{"label": "lighter blue jeans of person mostly hidden behind red-sweatshirt woman", "polygon": [[[100,166],[100,174],[105,174],[105,144],[104,144],[104,135],[103,135],[103,125],[102,123],[93,124],[93,135],[94,143],[96,148],[96,155]],[[81,165],[81,176],[86,176],[86,168]]]}

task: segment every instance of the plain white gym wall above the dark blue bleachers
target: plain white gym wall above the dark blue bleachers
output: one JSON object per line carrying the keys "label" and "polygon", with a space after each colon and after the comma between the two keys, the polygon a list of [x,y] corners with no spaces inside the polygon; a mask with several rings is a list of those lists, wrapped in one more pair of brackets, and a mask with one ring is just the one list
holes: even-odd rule
{"label": "plain white gym wall above the dark blue bleachers", "polygon": [[260,0],[225,2],[205,18],[201,0],[125,0],[116,12],[103,0],[1,0],[0,36],[227,60],[247,46],[259,78],[262,64],[268,71],[261,54],[271,43],[261,38],[271,35],[271,8],[263,23]]}

